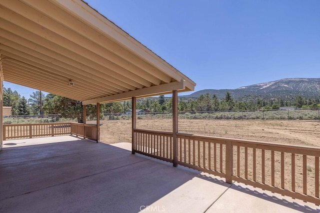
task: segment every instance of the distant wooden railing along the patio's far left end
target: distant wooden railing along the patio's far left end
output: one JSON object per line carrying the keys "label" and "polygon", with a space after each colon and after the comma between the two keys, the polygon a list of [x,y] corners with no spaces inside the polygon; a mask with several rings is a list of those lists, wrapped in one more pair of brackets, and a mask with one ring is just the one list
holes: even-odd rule
{"label": "distant wooden railing along the patio's far left end", "polygon": [[70,123],[4,124],[3,140],[70,135]]}

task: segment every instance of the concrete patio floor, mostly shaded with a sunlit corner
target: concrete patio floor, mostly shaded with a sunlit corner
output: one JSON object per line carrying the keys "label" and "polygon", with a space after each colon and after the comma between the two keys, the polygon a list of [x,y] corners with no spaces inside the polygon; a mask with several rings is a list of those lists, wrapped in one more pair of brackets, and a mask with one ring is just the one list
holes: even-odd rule
{"label": "concrete patio floor, mostly shaded with a sunlit corner", "polygon": [[71,136],[4,141],[0,212],[320,212],[299,200]]}

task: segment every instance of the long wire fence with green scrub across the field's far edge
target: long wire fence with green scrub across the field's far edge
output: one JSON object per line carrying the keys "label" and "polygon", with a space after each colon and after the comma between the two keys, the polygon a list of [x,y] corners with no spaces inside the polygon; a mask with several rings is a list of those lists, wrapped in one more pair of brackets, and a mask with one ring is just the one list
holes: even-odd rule
{"label": "long wire fence with green scrub across the field's far edge", "polygon": [[[172,119],[172,112],[139,112],[138,120]],[[235,111],[201,111],[178,112],[179,119],[205,120],[317,120],[320,122],[320,108],[269,109],[269,110],[235,110]],[[105,113],[101,120],[129,120],[128,113]],[[89,119],[87,121],[95,121]],[[5,116],[3,124],[30,124],[70,122],[76,119],[61,118],[59,115],[20,115]]]}

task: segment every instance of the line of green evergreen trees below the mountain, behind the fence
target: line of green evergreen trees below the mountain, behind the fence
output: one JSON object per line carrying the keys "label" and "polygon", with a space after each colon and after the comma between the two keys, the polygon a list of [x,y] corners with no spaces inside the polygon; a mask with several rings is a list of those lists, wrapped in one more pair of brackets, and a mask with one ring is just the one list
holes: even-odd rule
{"label": "line of green evergreen trees below the mountain, behind the fence", "polygon": [[[27,100],[20,96],[17,91],[10,88],[3,88],[3,106],[12,107],[12,115],[39,115],[39,114],[59,114],[64,118],[82,119],[83,107],[80,101],[64,98],[58,95],[44,95],[40,102],[40,91],[35,91]],[[158,98],[142,98],[136,100],[137,109],[147,109],[149,112],[170,112],[172,111],[172,98],[160,95]],[[41,106],[41,107],[40,107]],[[278,109],[284,106],[294,106],[297,108],[317,108],[320,107],[318,98],[295,97],[293,100],[283,99],[261,99],[236,101],[229,92],[225,93],[223,99],[218,99],[216,95],[210,96],[208,93],[200,95],[198,98],[179,99],[178,110],[180,112],[201,112],[201,111],[226,111],[226,110],[257,110],[257,109]],[[41,111],[40,111],[41,109]],[[100,104],[100,117],[103,114],[125,113],[131,109],[131,101],[121,101]],[[86,106],[87,116],[96,117],[96,106]]]}

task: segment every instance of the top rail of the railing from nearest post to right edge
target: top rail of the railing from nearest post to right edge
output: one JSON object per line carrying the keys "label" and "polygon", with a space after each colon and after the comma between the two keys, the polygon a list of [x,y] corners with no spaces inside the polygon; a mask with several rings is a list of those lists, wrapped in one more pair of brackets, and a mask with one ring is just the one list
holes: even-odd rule
{"label": "top rail of the railing from nearest post to right edge", "polygon": [[[242,139],[233,139],[233,138],[223,138],[223,137],[212,137],[212,136],[202,136],[202,135],[194,135],[187,133],[177,133],[177,137],[186,136],[192,138],[202,138],[216,141],[230,141],[234,146],[243,146],[243,147],[251,147],[251,148],[263,148],[265,150],[274,150],[278,149],[280,152],[289,152],[289,153],[305,153],[305,151],[310,152],[308,155],[319,156],[320,147],[311,147],[311,146],[303,146],[303,145],[288,145],[288,144],[280,144],[274,142],[261,142],[261,141],[250,141],[250,140],[242,140]],[[275,150],[277,151],[277,150]]]}

